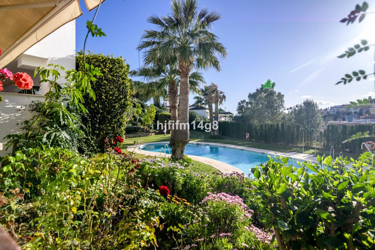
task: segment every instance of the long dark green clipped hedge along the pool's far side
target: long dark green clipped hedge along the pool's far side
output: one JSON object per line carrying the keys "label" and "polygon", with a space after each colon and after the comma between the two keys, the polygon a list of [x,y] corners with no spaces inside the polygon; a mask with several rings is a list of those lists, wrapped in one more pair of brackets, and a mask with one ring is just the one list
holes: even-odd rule
{"label": "long dark green clipped hedge along the pool's far side", "polygon": [[[203,126],[205,125],[204,122]],[[195,130],[204,131],[197,127]],[[193,126],[190,126],[193,129]],[[361,153],[361,144],[366,141],[375,141],[374,137],[357,139],[351,142],[342,143],[351,135],[358,132],[368,131],[370,135],[374,135],[375,129],[372,124],[358,124],[358,125],[328,125],[324,132],[321,132],[320,141],[317,141],[317,148],[330,150],[333,146],[338,156],[340,151],[349,151],[351,153]],[[302,133],[299,125],[281,124],[253,124],[253,123],[238,123],[238,122],[219,122],[219,133],[223,136],[228,136],[236,139],[245,139],[246,133],[249,133],[249,141],[262,142],[267,144],[302,147]],[[305,148],[314,148],[314,144],[308,145],[306,142],[310,132],[305,131]],[[322,144],[322,147],[319,145]],[[337,153],[338,152],[338,153]]]}

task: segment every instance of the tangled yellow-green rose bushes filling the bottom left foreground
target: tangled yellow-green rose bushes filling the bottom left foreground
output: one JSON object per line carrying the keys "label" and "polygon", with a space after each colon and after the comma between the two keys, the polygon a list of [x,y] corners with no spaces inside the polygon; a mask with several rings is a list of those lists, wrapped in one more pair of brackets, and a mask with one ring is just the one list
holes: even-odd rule
{"label": "tangled yellow-green rose bushes filling the bottom left foreground", "polygon": [[0,162],[0,224],[25,249],[156,244],[162,198],[137,184],[132,156],[110,151],[88,160],[45,148],[17,151]]}

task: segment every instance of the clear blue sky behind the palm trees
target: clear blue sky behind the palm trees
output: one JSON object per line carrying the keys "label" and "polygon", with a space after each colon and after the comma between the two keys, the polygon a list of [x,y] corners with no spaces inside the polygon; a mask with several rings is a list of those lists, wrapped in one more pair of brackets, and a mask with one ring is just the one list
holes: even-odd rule
{"label": "clear blue sky behind the palm trees", "polygon": [[[77,19],[76,48],[83,48],[88,13]],[[367,1],[375,11],[375,1]],[[267,79],[276,82],[276,90],[285,95],[285,106],[314,99],[321,108],[375,96],[374,81],[354,81],[335,85],[345,73],[363,69],[374,72],[374,46],[351,58],[339,59],[348,47],[361,39],[375,40],[375,13],[359,23],[346,26],[339,22],[357,3],[353,0],[270,1],[200,0],[200,7],[222,13],[213,33],[228,48],[222,71],[204,72],[207,83],[215,82],[225,92],[222,108],[236,112],[237,102]],[[149,15],[169,13],[170,0],[107,0],[95,23],[107,37],[89,37],[86,48],[103,54],[123,56],[130,69],[142,65],[136,46],[143,30],[155,28],[146,22]],[[190,96],[191,102],[192,95]]]}

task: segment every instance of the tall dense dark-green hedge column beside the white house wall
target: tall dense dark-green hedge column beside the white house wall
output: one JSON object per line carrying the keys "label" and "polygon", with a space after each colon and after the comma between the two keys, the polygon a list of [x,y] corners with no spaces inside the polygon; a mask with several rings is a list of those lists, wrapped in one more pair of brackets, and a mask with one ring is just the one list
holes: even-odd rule
{"label": "tall dense dark-green hedge column beside the white house wall", "polygon": [[[131,106],[129,66],[122,57],[93,53],[86,54],[86,63],[98,67],[103,73],[92,83],[96,99],[84,97],[84,106],[89,111],[87,123],[90,123],[91,134],[100,145],[105,137],[125,134],[126,112]],[[84,70],[82,51],[77,54],[76,69]]]}

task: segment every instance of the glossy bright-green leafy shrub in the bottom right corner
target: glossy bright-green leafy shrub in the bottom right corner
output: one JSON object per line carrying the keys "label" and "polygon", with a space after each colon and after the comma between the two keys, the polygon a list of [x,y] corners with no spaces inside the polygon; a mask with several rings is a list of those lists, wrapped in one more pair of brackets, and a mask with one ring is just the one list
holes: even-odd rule
{"label": "glossy bright-green leafy shrub in the bottom right corner", "polygon": [[351,159],[353,169],[347,159],[317,160],[295,168],[281,157],[252,168],[261,220],[275,230],[280,249],[374,249],[374,155]]}

